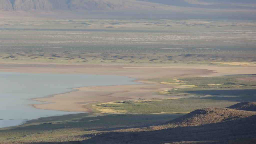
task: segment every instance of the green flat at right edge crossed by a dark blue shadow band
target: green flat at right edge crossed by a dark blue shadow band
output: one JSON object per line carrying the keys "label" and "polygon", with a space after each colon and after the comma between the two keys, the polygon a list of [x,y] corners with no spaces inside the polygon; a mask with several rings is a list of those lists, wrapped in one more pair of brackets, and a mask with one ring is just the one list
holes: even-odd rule
{"label": "green flat at right edge crossed by a dark blue shadow band", "polygon": [[[230,75],[225,77],[179,78],[177,85],[195,85],[193,88],[174,88],[169,95],[188,96],[238,96],[250,101],[256,100],[256,75]],[[249,98],[248,98],[249,97]],[[244,100],[245,100],[244,99]]]}

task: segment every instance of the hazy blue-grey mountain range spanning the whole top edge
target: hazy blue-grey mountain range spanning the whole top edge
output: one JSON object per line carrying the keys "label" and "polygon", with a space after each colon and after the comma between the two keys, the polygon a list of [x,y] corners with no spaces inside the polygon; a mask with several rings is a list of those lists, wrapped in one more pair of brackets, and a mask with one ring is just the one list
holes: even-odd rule
{"label": "hazy blue-grey mountain range spanning the whole top edge", "polygon": [[0,0],[0,15],[112,18],[255,18],[254,0]]}

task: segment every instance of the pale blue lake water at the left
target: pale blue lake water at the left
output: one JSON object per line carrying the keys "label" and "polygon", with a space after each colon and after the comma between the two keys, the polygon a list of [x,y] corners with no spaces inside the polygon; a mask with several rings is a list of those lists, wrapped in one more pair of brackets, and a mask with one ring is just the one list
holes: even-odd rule
{"label": "pale blue lake water at the left", "polygon": [[31,100],[32,98],[69,92],[73,91],[70,88],[77,87],[139,84],[133,80],[135,79],[109,75],[0,72],[0,128],[20,125],[26,120],[41,117],[82,113],[36,109],[32,104],[43,102]]}

